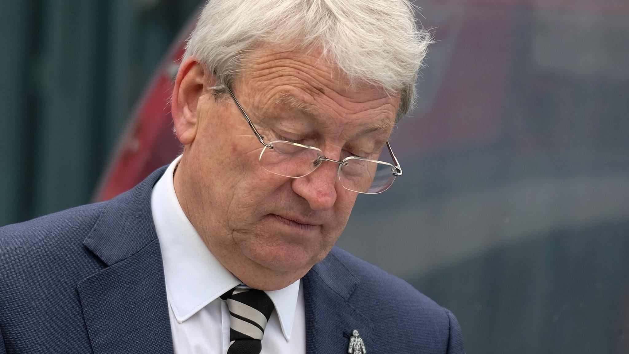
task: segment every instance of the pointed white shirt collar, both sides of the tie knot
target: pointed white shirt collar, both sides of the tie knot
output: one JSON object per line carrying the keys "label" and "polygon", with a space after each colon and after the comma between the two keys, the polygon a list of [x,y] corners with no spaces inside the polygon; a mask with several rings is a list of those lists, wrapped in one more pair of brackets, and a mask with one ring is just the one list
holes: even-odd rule
{"label": "pointed white shirt collar, both sides of the tie knot", "polygon": [[[153,187],[151,209],[162,250],[166,291],[175,319],[182,323],[239,285],[240,280],[216,260],[177,200],[173,176],[180,159],[172,161]],[[299,281],[266,292],[275,305],[286,340],[291,339]]]}

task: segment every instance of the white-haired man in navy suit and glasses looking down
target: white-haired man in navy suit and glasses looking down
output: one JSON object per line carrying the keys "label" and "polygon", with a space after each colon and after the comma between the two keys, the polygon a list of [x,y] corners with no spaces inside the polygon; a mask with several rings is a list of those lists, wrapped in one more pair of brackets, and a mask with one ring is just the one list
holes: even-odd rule
{"label": "white-haired man in navy suit and glasses looking down", "polygon": [[402,174],[387,140],[429,43],[406,0],[210,1],[182,156],[0,229],[0,353],[463,353],[451,312],[333,247]]}

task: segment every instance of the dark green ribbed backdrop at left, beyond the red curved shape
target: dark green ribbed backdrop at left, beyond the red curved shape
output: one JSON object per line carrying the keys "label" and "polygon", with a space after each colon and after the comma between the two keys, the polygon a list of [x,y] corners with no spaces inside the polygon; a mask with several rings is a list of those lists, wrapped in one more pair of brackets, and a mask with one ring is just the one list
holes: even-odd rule
{"label": "dark green ribbed backdrop at left, beyond the red curved shape", "polygon": [[89,201],[200,4],[0,0],[0,225]]}

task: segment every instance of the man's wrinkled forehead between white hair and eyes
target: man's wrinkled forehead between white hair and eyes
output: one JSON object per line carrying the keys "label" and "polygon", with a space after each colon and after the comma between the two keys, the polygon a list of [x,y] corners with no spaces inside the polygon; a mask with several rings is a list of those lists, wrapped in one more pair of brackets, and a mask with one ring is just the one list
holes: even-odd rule
{"label": "man's wrinkled forehead between white hair and eyes", "polygon": [[260,109],[298,113],[318,127],[390,133],[399,105],[398,94],[350,79],[316,50],[259,50],[241,81]]}

